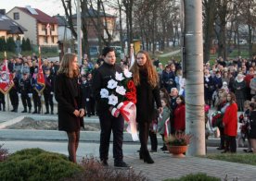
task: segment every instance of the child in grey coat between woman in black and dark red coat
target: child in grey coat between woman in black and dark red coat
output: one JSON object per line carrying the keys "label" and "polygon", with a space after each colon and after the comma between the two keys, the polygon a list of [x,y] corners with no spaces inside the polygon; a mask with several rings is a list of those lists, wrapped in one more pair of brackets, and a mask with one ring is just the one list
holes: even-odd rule
{"label": "child in grey coat between woman in black and dark red coat", "polygon": [[158,132],[163,141],[163,147],[161,148],[162,151],[167,151],[167,147],[164,143],[164,138],[168,137],[171,134],[171,124],[170,124],[170,114],[171,110],[168,106],[168,100],[165,98],[160,99],[161,106],[162,106],[162,113],[160,114],[159,118],[159,125],[158,125]]}

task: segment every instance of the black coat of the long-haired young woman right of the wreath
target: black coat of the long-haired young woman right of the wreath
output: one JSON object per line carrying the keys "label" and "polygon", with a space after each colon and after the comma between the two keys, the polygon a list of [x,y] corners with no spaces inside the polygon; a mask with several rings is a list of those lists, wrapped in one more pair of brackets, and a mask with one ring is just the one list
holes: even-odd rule
{"label": "black coat of the long-haired young woman right of the wreath", "polygon": [[140,85],[136,86],[136,121],[150,123],[156,117],[154,103],[157,103],[158,108],[161,107],[160,88],[159,86],[152,88],[147,82],[145,73],[140,71]]}

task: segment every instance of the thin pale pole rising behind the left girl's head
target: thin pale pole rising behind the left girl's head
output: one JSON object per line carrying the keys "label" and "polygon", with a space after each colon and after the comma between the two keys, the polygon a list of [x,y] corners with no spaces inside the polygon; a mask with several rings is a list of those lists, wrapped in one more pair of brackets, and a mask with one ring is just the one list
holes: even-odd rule
{"label": "thin pale pole rising behind the left girl's head", "polygon": [[80,0],[77,0],[77,18],[76,18],[76,24],[77,24],[77,60],[78,64],[82,65],[82,41],[81,41],[81,5]]}

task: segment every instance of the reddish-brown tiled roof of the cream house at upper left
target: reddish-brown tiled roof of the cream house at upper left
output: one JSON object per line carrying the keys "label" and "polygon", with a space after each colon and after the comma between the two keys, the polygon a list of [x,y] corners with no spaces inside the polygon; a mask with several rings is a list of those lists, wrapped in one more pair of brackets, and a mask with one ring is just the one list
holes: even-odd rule
{"label": "reddish-brown tiled roof of the cream house at upper left", "polygon": [[36,18],[41,23],[58,23],[57,18],[52,18],[37,8],[33,8],[33,9],[38,13],[38,15],[33,15],[26,7],[18,6],[17,8],[19,8],[21,11],[27,13],[28,15],[32,16],[33,18]]}

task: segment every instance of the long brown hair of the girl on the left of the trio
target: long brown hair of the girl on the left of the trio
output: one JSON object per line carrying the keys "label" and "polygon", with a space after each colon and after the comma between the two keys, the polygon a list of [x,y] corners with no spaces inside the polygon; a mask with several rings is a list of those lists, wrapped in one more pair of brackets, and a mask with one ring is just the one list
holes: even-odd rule
{"label": "long brown hair of the girl on the left of the trio", "polygon": [[76,54],[64,54],[58,69],[58,74],[65,74],[68,78],[78,77],[79,68],[73,70],[71,65],[76,57]]}

